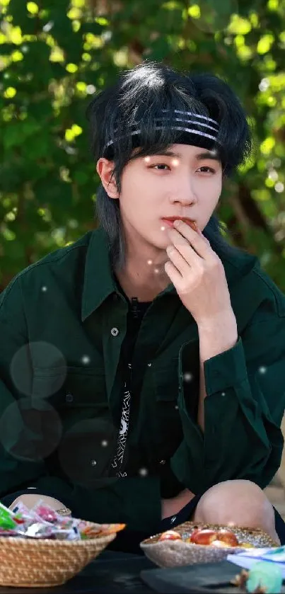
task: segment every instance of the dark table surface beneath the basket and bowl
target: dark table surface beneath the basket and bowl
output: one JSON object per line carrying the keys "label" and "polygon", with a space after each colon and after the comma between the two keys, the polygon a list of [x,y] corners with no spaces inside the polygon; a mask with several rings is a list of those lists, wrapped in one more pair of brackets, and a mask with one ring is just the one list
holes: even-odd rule
{"label": "dark table surface beneath the basket and bowl", "polygon": [[231,585],[237,573],[228,561],[159,569],[145,556],[105,551],[63,586],[0,586],[0,594],[239,594],[245,590]]}

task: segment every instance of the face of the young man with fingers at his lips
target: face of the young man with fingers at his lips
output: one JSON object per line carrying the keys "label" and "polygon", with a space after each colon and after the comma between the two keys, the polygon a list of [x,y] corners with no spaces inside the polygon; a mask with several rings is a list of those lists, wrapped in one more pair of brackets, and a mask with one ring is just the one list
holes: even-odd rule
{"label": "face of the young man with fingers at his lips", "polygon": [[173,144],[165,154],[129,161],[122,172],[120,195],[106,190],[110,198],[120,200],[127,247],[141,256],[155,256],[169,244],[170,227],[163,218],[187,217],[202,231],[219,202],[221,186],[216,153]]}

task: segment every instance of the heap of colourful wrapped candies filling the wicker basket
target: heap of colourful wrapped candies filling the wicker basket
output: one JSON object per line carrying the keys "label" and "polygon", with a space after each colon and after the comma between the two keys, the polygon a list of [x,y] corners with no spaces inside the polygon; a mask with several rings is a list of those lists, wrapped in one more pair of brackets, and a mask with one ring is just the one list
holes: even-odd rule
{"label": "heap of colourful wrapped candies filling the wicker basket", "polygon": [[22,501],[13,510],[0,503],[0,537],[80,540],[119,532],[124,527],[125,524],[95,524],[63,517],[42,500],[30,510]]}

